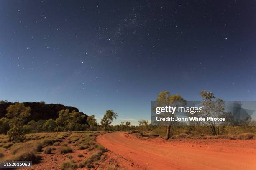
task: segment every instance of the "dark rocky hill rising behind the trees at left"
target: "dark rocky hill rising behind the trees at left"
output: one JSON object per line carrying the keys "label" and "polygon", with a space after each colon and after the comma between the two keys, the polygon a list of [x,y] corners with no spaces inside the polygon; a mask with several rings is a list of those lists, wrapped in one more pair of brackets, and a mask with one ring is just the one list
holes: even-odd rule
{"label": "dark rocky hill rising behind the trees at left", "polygon": [[[6,102],[3,104],[0,104],[0,118],[5,117],[5,114],[7,113],[6,109],[10,105],[14,103],[12,102]],[[79,112],[79,110],[76,107],[71,106],[65,106],[61,104],[44,104],[39,102],[24,102],[24,105],[26,107],[31,108],[31,116],[28,117],[27,122],[30,120],[48,120],[48,119],[56,119],[58,117],[60,110],[69,109],[70,112],[75,110],[76,112]],[[84,114],[83,112],[80,112],[81,114]],[[85,114],[84,114],[85,115]],[[83,124],[87,124],[87,115],[85,116],[84,120],[82,121]]]}

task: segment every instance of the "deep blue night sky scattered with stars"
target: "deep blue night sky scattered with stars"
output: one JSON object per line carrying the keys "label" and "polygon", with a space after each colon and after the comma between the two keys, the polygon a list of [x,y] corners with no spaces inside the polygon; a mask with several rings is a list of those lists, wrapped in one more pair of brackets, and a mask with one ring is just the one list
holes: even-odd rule
{"label": "deep blue night sky scattered with stars", "polygon": [[133,125],[165,90],[256,100],[255,19],[253,0],[1,0],[0,100]]}

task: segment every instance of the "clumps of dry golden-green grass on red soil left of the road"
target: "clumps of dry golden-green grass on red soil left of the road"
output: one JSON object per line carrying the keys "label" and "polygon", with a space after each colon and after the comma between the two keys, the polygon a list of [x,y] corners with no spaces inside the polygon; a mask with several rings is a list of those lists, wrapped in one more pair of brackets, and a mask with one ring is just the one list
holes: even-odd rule
{"label": "clumps of dry golden-green grass on red soil left of the road", "polygon": [[[98,135],[99,132],[74,132],[74,133],[36,133],[27,134],[26,139],[23,142],[8,142],[7,135],[0,135],[0,161],[32,161],[36,163],[39,160],[37,156],[42,150],[46,154],[52,152],[49,146],[59,146],[63,139],[67,139],[67,143],[62,144],[57,148],[58,153],[72,153],[72,147],[77,147],[78,149],[89,149],[93,148],[92,155],[86,159],[86,163],[81,166],[86,166],[87,168],[92,168],[96,165],[96,162],[101,160],[102,153],[105,148],[101,145],[95,143],[94,137]],[[71,141],[71,142],[68,142]],[[74,143],[74,144],[73,144]],[[44,148],[46,147],[46,148]],[[5,148],[8,148],[8,155],[5,154]],[[55,148],[55,149],[56,149]],[[84,155],[78,155],[82,157]],[[70,159],[73,158],[72,154],[68,156]],[[85,162],[85,161],[84,161]],[[74,169],[77,165],[73,161],[65,161],[62,165],[62,169]]]}

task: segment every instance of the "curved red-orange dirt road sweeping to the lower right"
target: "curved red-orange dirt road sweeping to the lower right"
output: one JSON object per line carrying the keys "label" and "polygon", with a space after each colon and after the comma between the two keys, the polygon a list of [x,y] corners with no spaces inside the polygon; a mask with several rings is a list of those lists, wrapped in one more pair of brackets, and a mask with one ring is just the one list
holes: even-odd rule
{"label": "curved red-orange dirt road sweeping to the lower right", "polygon": [[255,148],[227,144],[172,145],[171,142],[140,140],[122,132],[100,135],[96,141],[147,170],[256,170]]}

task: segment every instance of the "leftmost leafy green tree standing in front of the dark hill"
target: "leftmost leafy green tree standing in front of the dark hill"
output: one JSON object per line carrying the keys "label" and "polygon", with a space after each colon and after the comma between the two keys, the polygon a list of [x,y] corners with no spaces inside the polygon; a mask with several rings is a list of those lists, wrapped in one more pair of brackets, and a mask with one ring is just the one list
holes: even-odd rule
{"label": "leftmost leafy green tree standing in front of the dark hill", "polygon": [[7,109],[6,117],[11,119],[10,130],[7,135],[9,141],[21,140],[24,136],[23,126],[26,118],[30,116],[30,107],[25,107],[23,103],[16,102],[14,105],[10,105]]}

